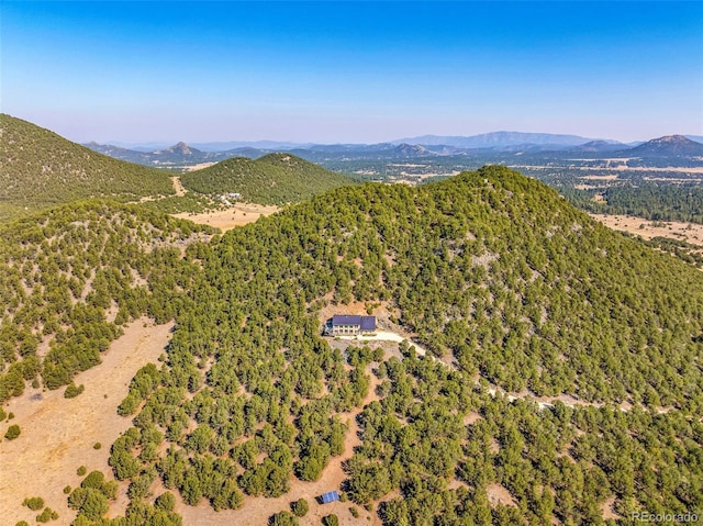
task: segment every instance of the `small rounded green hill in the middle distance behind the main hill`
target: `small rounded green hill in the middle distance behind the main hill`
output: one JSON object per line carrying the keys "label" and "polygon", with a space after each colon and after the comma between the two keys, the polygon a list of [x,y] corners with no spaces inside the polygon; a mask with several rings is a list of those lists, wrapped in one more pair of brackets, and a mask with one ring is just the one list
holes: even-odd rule
{"label": "small rounded green hill in the middle distance behind the main hill", "polygon": [[205,194],[241,193],[246,202],[286,204],[344,184],[352,178],[326,170],[290,154],[269,154],[256,160],[236,157],[181,176],[188,190]]}

